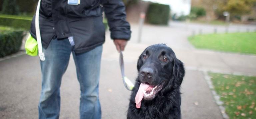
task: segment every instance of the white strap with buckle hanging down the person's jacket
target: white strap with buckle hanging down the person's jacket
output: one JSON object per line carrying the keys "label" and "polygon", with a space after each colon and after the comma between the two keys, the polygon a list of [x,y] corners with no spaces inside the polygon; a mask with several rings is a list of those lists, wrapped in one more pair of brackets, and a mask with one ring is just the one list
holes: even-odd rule
{"label": "white strap with buckle hanging down the person's jacket", "polygon": [[37,8],[36,8],[36,39],[37,39],[37,46],[38,46],[38,56],[40,57],[41,61],[45,60],[44,53],[42,50],[42,42],[41,42],[41,34],[39,29],[39,11],[40,11],[40,3],[41,0],[38,1]]}

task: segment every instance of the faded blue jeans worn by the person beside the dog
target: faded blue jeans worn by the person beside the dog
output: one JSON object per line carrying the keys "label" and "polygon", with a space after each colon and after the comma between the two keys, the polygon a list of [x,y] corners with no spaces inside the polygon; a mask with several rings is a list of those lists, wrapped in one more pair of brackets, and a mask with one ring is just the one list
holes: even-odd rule
{"label": "faded blue jeans worn by the person beside the dog", "polygon": [[40,62],[42,91],[38,105],[39,119],[59,118],[61,78],[68,67],[71,53],[81,90],[80,119],[100,119],[99,75],[102,45],[91,51],[75,54],[68,39],[53,39],[43,52],[46,60]]}

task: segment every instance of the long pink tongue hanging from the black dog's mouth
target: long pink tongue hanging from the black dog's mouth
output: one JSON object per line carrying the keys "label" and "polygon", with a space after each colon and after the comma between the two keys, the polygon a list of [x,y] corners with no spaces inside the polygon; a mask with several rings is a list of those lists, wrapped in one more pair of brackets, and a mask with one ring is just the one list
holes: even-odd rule
{"label": "long pink tongue hanging from the black dog's mouth", "polygon": [[141,83],[139,90],[135,96],[135,103],[136,103],[136,108],[140,108],[141,105],[141,100],[143,99],[144,93],[143,90],[147,91],[147,90],[151,90],[153,87],[145,84],[145,83]]}

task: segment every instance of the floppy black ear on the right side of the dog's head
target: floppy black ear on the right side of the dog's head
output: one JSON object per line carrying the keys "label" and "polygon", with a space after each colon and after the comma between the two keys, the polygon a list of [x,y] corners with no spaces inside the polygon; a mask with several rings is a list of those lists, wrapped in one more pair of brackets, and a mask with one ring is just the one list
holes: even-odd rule
{"label": "floppy black ear on the right side of the dog's head", "polygon": [[185,69],[183,66],[183,63],[178,60],[177,58],[174,59],[174,66],[173,66],[173,72],[172,72],[172,78],[173,78],[173,87],[179,88],[181,85],[181,82],[183,80],[183,77],[185,75]]}

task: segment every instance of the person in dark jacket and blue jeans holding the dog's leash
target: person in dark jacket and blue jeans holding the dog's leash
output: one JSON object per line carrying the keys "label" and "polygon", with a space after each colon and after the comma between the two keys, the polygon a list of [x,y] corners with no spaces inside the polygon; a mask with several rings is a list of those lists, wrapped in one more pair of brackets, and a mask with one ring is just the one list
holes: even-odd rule
{"label": "person in dark jacket and blue jeans holding the dog's leash", "polygon": [[[59,118],[61,78],[71,53],[81,90],[80,119],[100,119],[99,74],[105,41],[103,11],[116,49],[123,51],[130,39],[130,24],[121,0],[80,0],[78,5],[71,5],[70,1],[74,0],[41,1],[39,25],[45,61],[40,61],[39,119]],[[30,34],[36,39],[35,16]]]}

